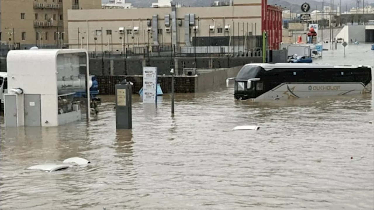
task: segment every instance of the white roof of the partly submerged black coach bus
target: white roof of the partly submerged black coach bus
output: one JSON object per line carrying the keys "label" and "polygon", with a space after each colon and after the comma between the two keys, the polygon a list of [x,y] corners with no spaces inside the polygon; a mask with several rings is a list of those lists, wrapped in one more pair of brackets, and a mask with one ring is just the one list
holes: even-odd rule
{"label": "white roof of the partly submerged black coach bus", "polygon": [[265,63],[254,63],[254,64],[246,64],[246,65],[252,65],[252,66],[259,66],[264,68],[265,71],[269,71],[272,69],[278,69],[278,68],[339,68],[339,69],[352,69],[352,68],[359,68],[359,67],[367,67],[371,68],[368,65],[341,65],[341,66],[334,66],[334,65],[321,65],[321,64],[294,64],[294,63],[276,63],[276,64],[265,64]]}

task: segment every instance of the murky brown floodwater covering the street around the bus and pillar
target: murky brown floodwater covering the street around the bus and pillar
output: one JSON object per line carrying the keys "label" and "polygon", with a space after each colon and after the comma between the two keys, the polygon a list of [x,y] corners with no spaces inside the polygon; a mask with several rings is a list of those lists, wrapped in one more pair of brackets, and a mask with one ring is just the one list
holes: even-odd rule
{"label": "murky brown floodwater covering the street around the bus and pillar", "polygon": [[[369,47],[319,62],[374,66]],[[373,210],[370,95],[254,103],[232,93],[177,95],[174,118],[168,95],[156,110],[134,96],[132,131],[116,131],[110,103],[88,124],[1,127],[0,209]],[[261,128],[231,131],[245,124]],[[74,156],[92,164],[24,170]]]}

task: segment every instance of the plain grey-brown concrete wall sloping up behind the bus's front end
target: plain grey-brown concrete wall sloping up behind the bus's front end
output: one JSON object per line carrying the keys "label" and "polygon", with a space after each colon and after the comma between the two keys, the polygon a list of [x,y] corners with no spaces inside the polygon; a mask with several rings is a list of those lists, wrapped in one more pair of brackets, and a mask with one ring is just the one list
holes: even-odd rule
{"label": "plain grey-brown concrete wall sloping up behind the bus's front end", "polygon": [[226,79],[229,77],[236,77],[240,68],[242,68],[242,66],[200,74],[195,79],[195,92],[219,90],[220,88],[225,87]]}

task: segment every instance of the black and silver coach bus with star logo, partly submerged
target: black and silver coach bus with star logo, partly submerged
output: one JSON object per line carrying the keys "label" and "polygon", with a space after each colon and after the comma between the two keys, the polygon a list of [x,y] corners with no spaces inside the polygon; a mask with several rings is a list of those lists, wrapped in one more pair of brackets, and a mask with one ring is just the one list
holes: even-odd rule
{"label": "black and silver coach bus with star logo, partly submerged", "polygon": [[255,101],[371,92],[370,66],[246,64],[235,78],[235,99]]}

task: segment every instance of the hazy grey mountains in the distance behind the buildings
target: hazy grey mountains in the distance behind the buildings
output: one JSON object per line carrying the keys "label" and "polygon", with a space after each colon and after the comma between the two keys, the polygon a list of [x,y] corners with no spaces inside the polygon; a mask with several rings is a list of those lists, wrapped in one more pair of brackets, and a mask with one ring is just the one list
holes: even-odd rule
{"label": "hazy grey mountains in the distance behind the buildings", "polygon": [[[184,6],[191,6],[191,7],[206,7],[211,6],[214,1],[217,0],[175,0],[176,3],[180,3]],[[227,0],[221,0],[227,1]],[[374,6],[374,0],[360,0],[361,2],[369,2],[369,5]],[[132,3],[134,7],[150,7],[152,3],[157,2],[157,0],[126,0],[126,3]],[[292,12],[299,13],[301,12],[301,3],[303,1],[300,0],[268,0],[268,4],[277,4],[282,7],[286,7],[287,10],[291,10]],[[330,0],[308,0],[310,4],[310,11],[313,10],[322,10],[322,5],[330,6]],[[322,3],[324,2],[324,3]],[[102,0],[102,3],[108,3],[108,0]],[[339,5],[339,0],[334,0],[334,9],[337,9]],[[349,10],[352,7],[356,7],[356,0],[341,0],[341,12]],[[362,7],[362,3],[360,4]]]}

